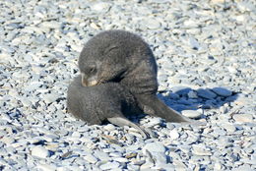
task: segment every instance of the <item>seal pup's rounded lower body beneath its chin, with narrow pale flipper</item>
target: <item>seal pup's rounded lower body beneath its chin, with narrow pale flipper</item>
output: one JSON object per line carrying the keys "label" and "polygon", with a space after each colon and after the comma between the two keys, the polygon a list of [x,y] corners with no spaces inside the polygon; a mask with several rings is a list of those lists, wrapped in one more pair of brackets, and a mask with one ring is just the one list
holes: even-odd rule
{"label": "seal pup's rounded lower body beneath its chin, with narrow pale flipper", "polygon": [[149,135],[125,116],[142,113],[134,96],[120,84],[106,83],[96,86],[83,86],[78,76],[68,87],[68,110],[89,125],[100,125],[108,120],[117,126],[130,126],[139,130],[144,138]]}

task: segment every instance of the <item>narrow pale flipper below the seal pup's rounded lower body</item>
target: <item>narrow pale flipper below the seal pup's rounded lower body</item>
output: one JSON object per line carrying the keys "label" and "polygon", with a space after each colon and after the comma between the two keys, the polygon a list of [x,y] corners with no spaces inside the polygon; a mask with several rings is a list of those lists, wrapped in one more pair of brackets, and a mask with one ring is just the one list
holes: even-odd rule
{"label": "narrow pale flipper below the seal pup's rounded lower body", "polygon": [[150,138],[149,134],[144,131],[142,128],[140,128],[138,125],[134,124],[133,122],[129,121],[128,119],[126,118],[122,118],[122,117],[112,117],[112,118],[107,118],[107,120],[114,124],[114,125],[117,125],[119,127],[123,127],[123,126],[130,126],[130,127],[133,127],[135,129],[137,129],[143,138]]}

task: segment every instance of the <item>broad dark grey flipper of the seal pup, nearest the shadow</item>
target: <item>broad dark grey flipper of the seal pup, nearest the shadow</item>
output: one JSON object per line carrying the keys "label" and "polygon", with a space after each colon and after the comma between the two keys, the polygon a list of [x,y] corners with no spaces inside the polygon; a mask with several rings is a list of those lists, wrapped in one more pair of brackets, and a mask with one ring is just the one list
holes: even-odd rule
{"label": "broad dark grey flipper of the seal pup, nearest the shadow", "polygon": [[178,112],[164,104],[157,95],[138,95],[137,100],[143,111],[149,115],[158,116],[166,122],[193,122],[193,120],[178,114]]}

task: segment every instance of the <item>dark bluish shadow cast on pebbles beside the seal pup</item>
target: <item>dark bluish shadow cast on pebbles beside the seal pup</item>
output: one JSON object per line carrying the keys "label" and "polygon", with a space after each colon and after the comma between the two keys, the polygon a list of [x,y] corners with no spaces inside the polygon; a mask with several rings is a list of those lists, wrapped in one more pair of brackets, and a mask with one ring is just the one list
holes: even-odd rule
{"label": "dark bluish shadow cast on pebbles beside the seal pup", "polygon": [[[219,93],[216,93],[218,90]],[[230,91],[224,87],[176,88],[169,91],[160,91],[159,98],[170,108],[181,112],[182,110],[217,109],[234,101],[239,92]]]}

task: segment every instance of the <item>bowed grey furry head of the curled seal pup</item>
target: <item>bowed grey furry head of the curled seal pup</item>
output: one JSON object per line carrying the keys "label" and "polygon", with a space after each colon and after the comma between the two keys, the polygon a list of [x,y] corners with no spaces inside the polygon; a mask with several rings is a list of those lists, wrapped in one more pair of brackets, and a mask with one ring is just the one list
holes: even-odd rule
{"label": "bowed grey furry head of the curled seal pup", "polygon": [[82,85],[100,85],[122,79],[133,49],[128,45],[132,43],[127,44],[130,34],[122,30],[103,31],[85,44],[78,62]]}

